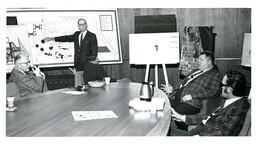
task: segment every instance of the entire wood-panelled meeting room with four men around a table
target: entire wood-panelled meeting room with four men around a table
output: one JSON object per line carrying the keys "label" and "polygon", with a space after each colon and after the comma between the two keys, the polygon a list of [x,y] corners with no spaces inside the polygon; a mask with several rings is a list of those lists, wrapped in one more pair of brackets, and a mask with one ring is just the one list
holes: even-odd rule
{"label": "entire wood-panelled meeting room with four men around a table", "polygon": [[7,8],[6,136],[251,136],[251,12]]}

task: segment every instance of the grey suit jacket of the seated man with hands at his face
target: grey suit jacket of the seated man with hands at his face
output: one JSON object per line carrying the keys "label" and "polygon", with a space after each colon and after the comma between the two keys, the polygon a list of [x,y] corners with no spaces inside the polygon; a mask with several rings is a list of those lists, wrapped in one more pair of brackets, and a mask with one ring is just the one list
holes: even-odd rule
{"label": "grey suit jacket of the seated man with hands at his face", "polygon": [[43,77],[35,76],[32,72],[24,74],[15,68],[11,72],[9,81],[16,84],[21,97],[48,90]]}

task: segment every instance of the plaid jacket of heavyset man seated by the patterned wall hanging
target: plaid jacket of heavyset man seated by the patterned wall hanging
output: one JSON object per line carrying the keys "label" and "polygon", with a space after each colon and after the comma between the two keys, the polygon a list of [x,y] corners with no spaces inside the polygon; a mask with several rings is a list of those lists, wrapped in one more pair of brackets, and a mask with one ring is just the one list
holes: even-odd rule
{"label": "plaid jacket of heavyset man seated by the patterned wall hanging", "polygon": [[[185,80],[187,79],[185,78],[183,82]],[[189,82],[183,88],[181,97],[189,94],[192,95],[192,100],[186,101],[185,103],[190,104],[194,107],[201,108],[202,100],[214,99],[218,97],[220,83],[221,83],[221,75],[217,67],[213,67],[212,69],[204,72],[203,74],[201,74],[200,76],[198,76],[197,78]],[[181,99],[181,102],[184,102],[184,101],[182,101]]]}

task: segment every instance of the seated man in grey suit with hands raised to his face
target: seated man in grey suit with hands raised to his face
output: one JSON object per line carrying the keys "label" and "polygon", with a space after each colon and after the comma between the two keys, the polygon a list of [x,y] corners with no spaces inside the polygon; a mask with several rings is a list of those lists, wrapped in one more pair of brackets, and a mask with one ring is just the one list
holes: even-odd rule
{"label": "seated man in grey suit with hands raised to his face", "polygon": [[48,90],[44,73],[38,67],[30,66],[28,56],[19,53],[15,56],[14,63],[9,82],[16,84],[21,97]]}

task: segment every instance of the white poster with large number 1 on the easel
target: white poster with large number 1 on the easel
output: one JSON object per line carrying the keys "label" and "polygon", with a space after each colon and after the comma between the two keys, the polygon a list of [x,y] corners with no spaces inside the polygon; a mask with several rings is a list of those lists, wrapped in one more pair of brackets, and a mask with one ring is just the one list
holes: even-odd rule
{"label": "white poster with large number 1 on the easel", "polygon": [[129,34],[130,64],[178,64],[179,33]]}

